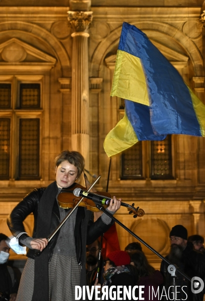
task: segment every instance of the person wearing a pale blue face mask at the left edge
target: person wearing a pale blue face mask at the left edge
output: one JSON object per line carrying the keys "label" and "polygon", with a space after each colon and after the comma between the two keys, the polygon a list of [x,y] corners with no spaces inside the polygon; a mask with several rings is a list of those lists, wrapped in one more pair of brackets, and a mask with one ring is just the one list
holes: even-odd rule
{"label": "person wearing a pale blue face mask at the left edge", "polygon": [[6,239],[8,237],[0,233],[0,300],[15,301],[18,282],[13,269],[7,266],[10,248]]}

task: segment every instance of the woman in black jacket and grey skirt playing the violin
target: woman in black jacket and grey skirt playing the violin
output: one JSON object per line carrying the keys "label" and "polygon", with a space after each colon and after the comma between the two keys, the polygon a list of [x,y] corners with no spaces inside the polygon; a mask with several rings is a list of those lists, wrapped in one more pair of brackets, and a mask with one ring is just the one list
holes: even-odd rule
{"label": "woman in black jacket and grey skirt playing the violin", "polygon": [[[26,216],[34,216],[32,237],[26,233],[19,236],[20,244],[27,247],[28,259],[16,301],[74,300],[75,285],[86,285],[86,244],[109,229],[111,218],[103,213],[93,222],[93,212],[78,207],[49,243],[46,239],[70,210],[59,207],[58,194],[73,185],[83,169],[83,157],[64,150],[55,160],[56,181],[47,188],[34,189],[12,210],[7,224],[14,236],[25,232]],[[120,201],[114,197],[106,210],[114,214]],[[36,250],[41,252],[39,256],[35,256]]]}

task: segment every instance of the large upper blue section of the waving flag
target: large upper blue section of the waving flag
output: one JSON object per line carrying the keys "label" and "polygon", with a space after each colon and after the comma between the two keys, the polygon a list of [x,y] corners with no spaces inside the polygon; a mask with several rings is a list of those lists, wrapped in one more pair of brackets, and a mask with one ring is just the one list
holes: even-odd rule
{"label": "large upper blue section of the waving flag", "polygon": [[[123,23],[118,49],[141,61],[149,96],[152,132],[200,136],[200,126],[187,86],[147,36],[135,26]],[[129,118],[134,120],[135,116]],[[138,137],[141,132],[136,131],[136,135]]]}

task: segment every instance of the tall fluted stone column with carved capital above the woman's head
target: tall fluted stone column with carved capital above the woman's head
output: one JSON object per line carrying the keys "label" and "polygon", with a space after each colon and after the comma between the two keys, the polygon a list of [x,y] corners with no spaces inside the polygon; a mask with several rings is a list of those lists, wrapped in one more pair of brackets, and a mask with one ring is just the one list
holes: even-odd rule
{"label": "tall fluted stone column with carved capital above the woman's head", "polygon": [[[85,159],[89,170],[89,73],[88,27],[92,21],[90,1],[70,1],[68,21],[72,27],[71,147]],[[83,11],[81,11],[83,9]],[[86,11],[87,10],[87,11]]]}

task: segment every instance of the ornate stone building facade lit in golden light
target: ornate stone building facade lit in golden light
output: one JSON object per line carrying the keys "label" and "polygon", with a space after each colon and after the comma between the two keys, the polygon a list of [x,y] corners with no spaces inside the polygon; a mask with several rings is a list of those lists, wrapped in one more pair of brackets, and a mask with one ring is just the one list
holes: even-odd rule
{"label": "ornate stone building facade lit in golden light", "polygon": [[[7,235],[8,213],[32,188],[54,180],[62,149],[79,150],[105,190],[103,140],[123,116],[123,99],[109,96],[122,22],[142,30],[205,103],[202,1],[29,3],[0,2],[0,232]],[[204,236],[204,138],[172,135],[157,143],[143,141],[111,159],[109,192],[145,211],[133,219],[122,207],[116,218],[165,255],[175,224]],[[32,216],[25,228],[31,235]],[[121,249],[134,241],[118,225],[117,232]]]}

